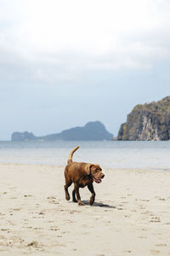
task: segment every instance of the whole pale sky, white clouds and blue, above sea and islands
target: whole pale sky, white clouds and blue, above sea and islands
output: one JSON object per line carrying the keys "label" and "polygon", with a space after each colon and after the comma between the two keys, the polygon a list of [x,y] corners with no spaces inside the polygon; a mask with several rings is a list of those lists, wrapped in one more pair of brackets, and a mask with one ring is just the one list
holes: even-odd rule
{"label": "whole pale sky, white clouds and blue, above sea and islands", "polygon": [[0,140],[100,120],[170,95],[169,0],[0,0]]}

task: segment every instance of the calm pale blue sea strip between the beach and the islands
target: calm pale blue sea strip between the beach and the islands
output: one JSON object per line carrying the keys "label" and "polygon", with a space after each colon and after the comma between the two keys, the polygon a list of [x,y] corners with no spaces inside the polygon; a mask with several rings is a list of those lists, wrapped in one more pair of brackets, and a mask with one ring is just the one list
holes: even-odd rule
{"label": "calm pale blue sea strip between the beach and the islands", "polygon": [[65,166],[71,149],[80,148],[73,160],[115,169],[170,171],[170,141],[166,142],[0,142],[1,163]]}

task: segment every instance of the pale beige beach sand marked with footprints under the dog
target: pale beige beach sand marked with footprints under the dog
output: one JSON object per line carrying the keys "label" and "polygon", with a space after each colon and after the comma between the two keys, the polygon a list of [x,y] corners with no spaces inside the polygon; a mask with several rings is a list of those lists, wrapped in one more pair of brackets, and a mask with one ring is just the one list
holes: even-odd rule
{"label": "pale beige beach sand marked with footprints under the dog", "polygon": [[64,166],[0,164],[0,255],[170,255],[170,173],[104,172],[79,207]]}

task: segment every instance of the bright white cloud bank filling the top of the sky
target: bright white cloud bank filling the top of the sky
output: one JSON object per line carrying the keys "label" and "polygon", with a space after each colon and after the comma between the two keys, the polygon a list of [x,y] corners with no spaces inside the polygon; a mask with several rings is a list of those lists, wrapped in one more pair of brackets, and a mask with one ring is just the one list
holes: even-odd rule
{"label": "bright white cloud bank filling the top of the sky", "polygon": [[0,63],[15,78],[49,83],[89,69],[152,68],[170,57],[169,8],[168,0],[0,1]]}

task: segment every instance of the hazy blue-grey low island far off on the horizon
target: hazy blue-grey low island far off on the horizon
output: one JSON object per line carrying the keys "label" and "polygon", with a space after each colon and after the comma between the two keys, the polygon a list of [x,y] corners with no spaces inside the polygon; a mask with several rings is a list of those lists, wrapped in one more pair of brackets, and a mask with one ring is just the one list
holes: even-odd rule
{"label": "hazy blue-grey low island far off on the horizon", "polygon": [[65,141],[102,141],[112,140],[113,135],[105,129],[99,121],[88,122],[83,127],[74,127],[68,130],[61,131],[60,133],[49,134],[43,137],[37,137],[32,132],[19,132],[15,131],[11,136],[11,141],[31,141],[31,140],[42,140],[42,141],[54,141],[54,140],[65,140]]}

